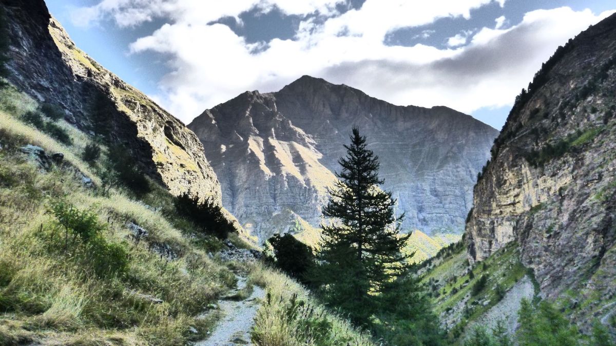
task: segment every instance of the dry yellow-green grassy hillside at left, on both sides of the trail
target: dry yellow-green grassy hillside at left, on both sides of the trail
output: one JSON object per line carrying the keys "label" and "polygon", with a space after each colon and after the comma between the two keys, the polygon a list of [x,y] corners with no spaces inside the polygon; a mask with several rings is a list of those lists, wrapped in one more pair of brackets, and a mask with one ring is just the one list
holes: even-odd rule
{"label": "dry yellow-green grassy hillside at left, on both sides of the trail", "polygon": [[[174,215],[171,195],[158,185],[139,199],[116,188],[106,195],[84,187],[81,173],[100,186],[103,171],[81,159],[91,138],[59,121],[73,139],[66,146],[18,120],[36,107],[12,87],[0,90],[0,345],[181,345],[203,339],[219,317],[212,303],[235,285],[232,270],[246,265],[208,255],[216,254],[221,242],[199,235]],[[19,152],[26,144],[50,155],[63,153],[67,164],[41,171]],[[99,161],[107,155],[103,148]],[[94,254],[79,241],[64,251],[63,230],[49,213],[60,199],[95,212],[105,227],[102,238],[126,251],[126,271],[96,272]],[[147,238],[134,241],[128,222],[147,229]],[[150,251],[155,244],[168,245],[179,257],[167,260]],[[257,316],[255,333],[263,345],[274,345],[280,337],[288,345],[346,345],[349,340],[371,345],[299,284],[260,264],[248,267],[251,283],[275,297]],[[310,302],[315,316],[288,318],[293,294]],[[323,326],[336,332],[324,333]],[[289,332],[300,327],[303,332]]]}

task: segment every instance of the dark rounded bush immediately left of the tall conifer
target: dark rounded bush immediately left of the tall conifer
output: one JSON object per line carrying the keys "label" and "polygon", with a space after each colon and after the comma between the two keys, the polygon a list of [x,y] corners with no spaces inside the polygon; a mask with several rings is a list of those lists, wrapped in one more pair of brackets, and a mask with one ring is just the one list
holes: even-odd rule
{"label": "dark rounded bush immediately left of the tall conifer", "polygon": [[308,270],[314,265],[312,248],[302,243],[294,236],[285,234],[274,235],[268,239],[274,249],[276,267],[301,283],[308,283]]}

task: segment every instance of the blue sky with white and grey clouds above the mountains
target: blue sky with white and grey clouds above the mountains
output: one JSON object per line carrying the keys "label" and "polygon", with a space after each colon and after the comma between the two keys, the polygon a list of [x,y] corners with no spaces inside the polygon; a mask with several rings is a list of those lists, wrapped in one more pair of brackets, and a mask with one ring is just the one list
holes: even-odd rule
{"label": "blue sky with white and grey clouds above the mountains", "polygon": [[556,50],[613,0],[46,0],[77,46],[190,123],[304,74],[500,129]]}

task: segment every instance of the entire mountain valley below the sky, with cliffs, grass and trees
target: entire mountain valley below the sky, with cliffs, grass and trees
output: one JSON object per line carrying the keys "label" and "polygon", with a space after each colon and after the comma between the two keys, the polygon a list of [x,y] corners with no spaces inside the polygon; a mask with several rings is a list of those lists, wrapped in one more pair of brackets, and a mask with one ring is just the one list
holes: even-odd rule
{"label": "entire mountain valley below the sky, with cliffs, grass and trees", "polygon": [[0,346],[615,345],[615,52],[500,132],[307,75],[185,125],[0,0]]}

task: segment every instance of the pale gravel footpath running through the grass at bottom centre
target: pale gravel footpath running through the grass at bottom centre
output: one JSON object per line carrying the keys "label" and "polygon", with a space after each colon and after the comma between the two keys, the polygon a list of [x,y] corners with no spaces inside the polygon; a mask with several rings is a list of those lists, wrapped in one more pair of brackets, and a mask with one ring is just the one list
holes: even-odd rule
{"label": "pale gravel footpath running through the grass at bottom centre", "polygon": [[[231,295],[246,288],[246,278],[237,276],[237,288]],[[221,300],[219,308],[224,317],[217,324],[216,329],[208,339],[195,344],[196,346],[232,346],[252,345],[250,342],[250,329],[253,326],[254,316],[259,308],[259,299],[265,296],[265,291],[259,286],[253,286],[253,293],[245,300]]]}

